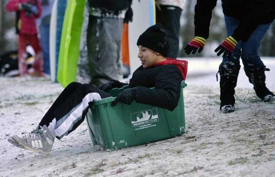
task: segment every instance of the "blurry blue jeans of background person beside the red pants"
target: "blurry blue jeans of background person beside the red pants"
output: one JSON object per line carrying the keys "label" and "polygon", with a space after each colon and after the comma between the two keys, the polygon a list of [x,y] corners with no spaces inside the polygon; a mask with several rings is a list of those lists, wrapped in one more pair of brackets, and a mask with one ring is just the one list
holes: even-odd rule
{"label": "blurry blue jeans of background person beside the red pants", "polygon": [[40,26],[40,44],[43,51],[44,73],[50,75],[50,26]]}

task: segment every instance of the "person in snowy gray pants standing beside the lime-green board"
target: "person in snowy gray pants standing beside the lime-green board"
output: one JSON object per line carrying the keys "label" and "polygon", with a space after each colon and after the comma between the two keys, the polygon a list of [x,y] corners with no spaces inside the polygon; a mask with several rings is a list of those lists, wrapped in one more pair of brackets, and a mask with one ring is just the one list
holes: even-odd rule
{"label": "person in snowy gray pants standing beside the lime-green board", "polygon": [[[87,50],[91,84],[122,79],[121,38],[124,21],[132,21],[132,0],[88,0]],[[125,20],[126,19],[126,20]]]}

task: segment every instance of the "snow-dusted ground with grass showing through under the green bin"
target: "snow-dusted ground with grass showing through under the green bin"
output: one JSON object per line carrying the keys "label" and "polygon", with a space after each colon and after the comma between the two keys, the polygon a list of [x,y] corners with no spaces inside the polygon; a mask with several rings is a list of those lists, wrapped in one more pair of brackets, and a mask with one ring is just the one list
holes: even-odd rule
{"label": "snow-dusted ground with grass showing through under the green bin", "polygon": [[[56,140],[48,156],[12,146],[7,138],[35,128],[63,88],[41,78],[0,78],[0,176],[274,176],[275,101],[257,98],[242,70],[236,111],[223,114],[215,77],[221,60],[188,61],[187,132],[114,151],[93,146],[86,122]],[[275,59],[263,61],[275,92]]]}

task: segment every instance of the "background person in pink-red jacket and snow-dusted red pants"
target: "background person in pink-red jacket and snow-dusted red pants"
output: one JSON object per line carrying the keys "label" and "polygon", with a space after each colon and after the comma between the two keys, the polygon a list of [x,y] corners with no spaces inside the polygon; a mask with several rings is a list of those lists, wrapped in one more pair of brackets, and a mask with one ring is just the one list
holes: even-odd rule
{"label": "background person in pink-red jacket and snow-dusted red pants", "polygon": [[35,52],[35,59],[32,67],[34,75],[42,77],[43,55],[37,37],[36,18],[42,12],[40,0],[10,0],[5,5],[7,11],[16,12],[16,33],[19,36],[18,42],[18,67],[20,76],[28,74],[26,46],[31,45]]}

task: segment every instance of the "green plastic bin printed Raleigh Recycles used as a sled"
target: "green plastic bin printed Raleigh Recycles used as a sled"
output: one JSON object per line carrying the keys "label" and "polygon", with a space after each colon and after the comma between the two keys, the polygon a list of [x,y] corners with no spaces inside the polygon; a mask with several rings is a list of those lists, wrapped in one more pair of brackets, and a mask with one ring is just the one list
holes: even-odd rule
{"label": "green plastic bin printed Raleigh Recycles used as a sled", "polygon": [[128,86],[110,90],[112,97],[94,101],[86,116],[93,144],[114,150],[183,134],[184,87],[186,83],[182,81],[178,106],[173,111],[136,102],[111,106],[115,96]]}

